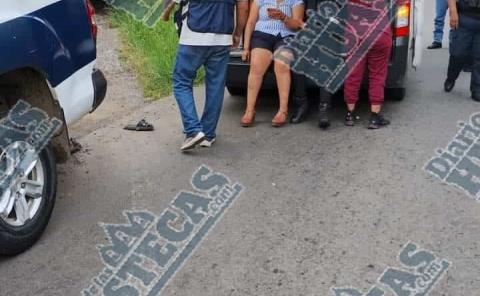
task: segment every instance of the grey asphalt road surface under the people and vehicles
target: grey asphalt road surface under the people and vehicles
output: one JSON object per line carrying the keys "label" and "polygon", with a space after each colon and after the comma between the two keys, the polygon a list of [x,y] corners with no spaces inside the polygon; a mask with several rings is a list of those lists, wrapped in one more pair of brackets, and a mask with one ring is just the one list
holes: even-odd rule
{"label": "grey asphalt road surface under the people and vehicles", "polygon": [[[429,32],[430,24],[428,42]],[[397,258],[408,242],[451,263],[428,295],[480,295],[480,205],[422,169],[455,136],[457,122],[480,109],[468,99],[465,74],[452,93],[442,91],[447,58],[447,49],[426,52],[410,71],[406,99],[385,106],[392,125],[378,131],[365,128],[365,108],[361,124],[345,127],[342,105],[328,131],[313,117],[274,129],[276,104],[268,98],[256,126],[243,129],[244,100],[228,95],[218,142],[190,154],[178,150],[172,98],[88,132],[77,128],[84,151],[59,167],[49,227],[25,254],[0,259],[0,294],[79,295],[105,268],[96,246],[108,241],[98,223],[124,223],[124,210],[160,215],[181,190],[193,190],[190,178],[205,164],[245,189],[162,295],[326,296],[332,286],[366,293],[388,267],[408,271]],[[122,130],[144,116],[154,132]]]}

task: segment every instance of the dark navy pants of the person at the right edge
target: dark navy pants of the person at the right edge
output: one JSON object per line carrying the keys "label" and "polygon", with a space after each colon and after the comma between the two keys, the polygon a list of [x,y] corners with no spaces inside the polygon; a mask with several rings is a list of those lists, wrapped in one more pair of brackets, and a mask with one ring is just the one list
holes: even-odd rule
{"label": "dark navy pants of the person at the right edge", "polygon": [[480,94],[480,20],[459,15],[458,29],[450,33],[448,79],[456,80],[467,63],[472,63],[470,90]]}

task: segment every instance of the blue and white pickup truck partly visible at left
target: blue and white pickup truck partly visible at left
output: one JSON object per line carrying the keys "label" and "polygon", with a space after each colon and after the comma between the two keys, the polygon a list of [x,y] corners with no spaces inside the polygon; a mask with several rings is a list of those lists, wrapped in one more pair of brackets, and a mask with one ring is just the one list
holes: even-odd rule
{"label": "blue and white pickup truck partly visible at left", "polygon": [[45,230],[55,202],[56,163],[70,154],[68,125],[101,104],[107,82],[95,68],[90,0],[2,0],[1,6],[0,114],[22,99],[64,123],[29,171],[0,195],[0,255],[14,255]]}

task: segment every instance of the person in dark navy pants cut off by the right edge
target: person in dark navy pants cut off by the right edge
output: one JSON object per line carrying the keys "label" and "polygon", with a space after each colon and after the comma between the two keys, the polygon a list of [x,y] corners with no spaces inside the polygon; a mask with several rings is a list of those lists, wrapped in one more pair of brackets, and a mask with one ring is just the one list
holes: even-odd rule
{"label": "person in dark navy pants cut off by the right edge", "polygon": [[445,91],[452,91],[463,67],[473,58],[472,99],[480,102],[480,0],[448,0],[450,8],[450,60]]}

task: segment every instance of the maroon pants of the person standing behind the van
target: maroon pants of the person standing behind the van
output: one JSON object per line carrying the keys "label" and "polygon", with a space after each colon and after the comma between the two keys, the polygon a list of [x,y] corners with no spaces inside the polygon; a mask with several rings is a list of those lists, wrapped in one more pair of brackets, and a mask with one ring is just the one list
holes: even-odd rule
{"label": "maroon pants of the person standing behind the van", "polygon": [[355,68],[350,71],[345,80],[345,102],[355,104],[358,101],[360,87],[362,86],[365,67],[368,66],[370,104],[381,105],[384,101],[385,80],[387,79],[388,61],[392,52],[392,29],[382,33],[375,44],[359,60]]}

